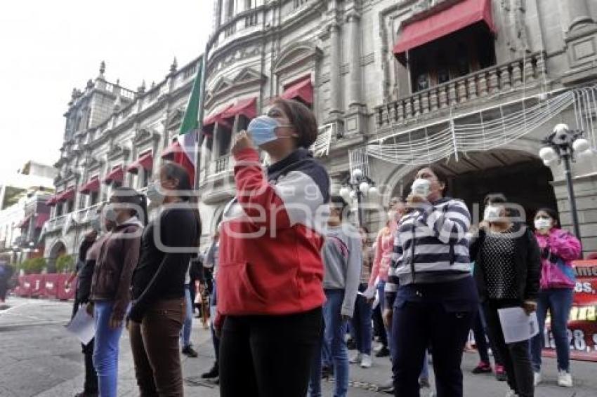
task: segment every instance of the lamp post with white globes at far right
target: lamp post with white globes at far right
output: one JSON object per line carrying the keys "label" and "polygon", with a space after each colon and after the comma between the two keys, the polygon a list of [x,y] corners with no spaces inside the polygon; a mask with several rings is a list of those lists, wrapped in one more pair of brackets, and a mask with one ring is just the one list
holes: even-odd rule
{"label": "lamp post with white globes at far right", "polygon": [[539,157],[541,157],[545,166],[555,166],[562,161],[564,163],[564,176],[566,177],[568,196],[570,198],[572,224],[574,225],[575,234],[580,240],[580,227],[570,162],[575,161],[575,154],[583,156],[584,154],[591,153],[589,141],[582,137],[582,130],[570,130],[566,124],[558,124],[553,128],[553,133],[542,142],[546,146],[539,150]]}

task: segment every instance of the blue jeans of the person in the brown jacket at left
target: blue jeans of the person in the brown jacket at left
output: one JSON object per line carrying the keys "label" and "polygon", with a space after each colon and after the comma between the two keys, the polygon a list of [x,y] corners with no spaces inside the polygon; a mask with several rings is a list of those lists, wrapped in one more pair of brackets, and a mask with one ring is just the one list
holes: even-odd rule
{"label": "blue jeans of the person in the brown jacket at left", "polygon": [[119,342],[124,326],[115,330],[110,328],[113,305],[111,301],[95,302],[93,313],[96,320],[93,366],[98,372],[100,397],[117,397]]}

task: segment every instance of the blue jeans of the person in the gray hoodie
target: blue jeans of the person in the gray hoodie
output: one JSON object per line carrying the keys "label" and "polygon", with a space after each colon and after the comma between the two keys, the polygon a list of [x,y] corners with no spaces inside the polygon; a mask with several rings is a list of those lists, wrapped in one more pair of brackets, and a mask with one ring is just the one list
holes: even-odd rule
{"label": "blue jeans of the person in the gray hoodie", "polygon": [[[348,393],[348,349],[346,348],[346,321],[340,311],[344,301],[344,290],[325,290],[327,301],[323,307],[324,337],[322,342],[329,344],[330,358],[334,365],[334,397],[346,397]],[[321,396],[321,358],[322,349],[317,349],[311,365],[309,396]]]}

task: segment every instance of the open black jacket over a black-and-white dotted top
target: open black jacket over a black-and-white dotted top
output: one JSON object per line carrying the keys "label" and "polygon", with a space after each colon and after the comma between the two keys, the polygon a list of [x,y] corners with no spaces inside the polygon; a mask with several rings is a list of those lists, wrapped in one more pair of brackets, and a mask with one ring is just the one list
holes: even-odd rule
{"label": "open black jacket over a black-and-white dotted top", "polygon": [[[537,300],[539,293],[539,278],[541,277],[541,258],[539,256],[539,245],[534,238],[532,231],[523,226],[517,226],[519,231],[516,238],[516,285],[518,285],[518,296],[521,303],[525,300]],[[485,285],[485,271],[483,270],[483,255],[481,247],[485,241],[485,231],[479,231],[478,238],[471,243],[469,252],[471,259],[475,261],[475,281],[481,301],[487,300],[487,286]]]}

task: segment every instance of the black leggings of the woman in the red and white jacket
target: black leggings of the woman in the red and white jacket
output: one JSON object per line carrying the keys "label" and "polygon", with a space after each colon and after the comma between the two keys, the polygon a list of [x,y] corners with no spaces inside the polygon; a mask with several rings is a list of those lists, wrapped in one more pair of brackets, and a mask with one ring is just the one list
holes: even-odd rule
{"label": "black leggings of the woman in the red and white jacket", "polygon": [[220,342],[221,397],[305,397],[322,309],[228,316]]}

